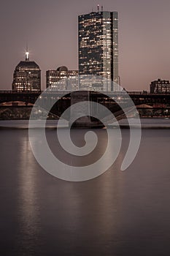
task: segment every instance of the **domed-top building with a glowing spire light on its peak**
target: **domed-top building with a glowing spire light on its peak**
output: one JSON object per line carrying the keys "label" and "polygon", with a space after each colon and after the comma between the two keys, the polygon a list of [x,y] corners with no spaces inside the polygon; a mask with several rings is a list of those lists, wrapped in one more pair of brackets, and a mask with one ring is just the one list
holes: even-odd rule
{"label": "domed-top building with a glowing spire light on its peak", "polygon": [[20,61],[15,67],[12,90],[41,91],[41,70],[35,61],[29,60],[28,50],[26,51],[26,60]]}

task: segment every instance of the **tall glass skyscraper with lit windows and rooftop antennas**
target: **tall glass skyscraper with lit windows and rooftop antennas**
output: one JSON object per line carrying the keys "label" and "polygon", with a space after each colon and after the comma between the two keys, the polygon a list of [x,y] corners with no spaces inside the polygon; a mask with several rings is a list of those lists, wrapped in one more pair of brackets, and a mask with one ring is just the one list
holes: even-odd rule
{"label": "tall glass skyscraper with lit windows and rooftop antennas", "polygon": [[[79,75],[100,75],[104,78],[91,89],[116,91],[109,83],[119,81],[118,75],[118,13],[101,11],[79,16]],[[85,86],[80,81],[80,87]],[[115,88],[114,88],[115,87]],[[85,89],[89,89],[88,85]]]}

